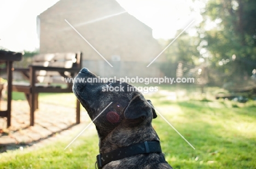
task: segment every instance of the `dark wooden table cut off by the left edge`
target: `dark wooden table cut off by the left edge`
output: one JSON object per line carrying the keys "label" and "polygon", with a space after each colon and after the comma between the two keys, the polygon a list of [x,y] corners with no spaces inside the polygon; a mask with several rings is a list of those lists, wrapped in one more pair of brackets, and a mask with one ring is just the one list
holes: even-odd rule
{"label": "dark wooden table cut off by the left edge", "polygon": [[7,117],[7,127],[11,125],[11,85],[13,82],[13,62],[21,61],[22,53],[0,50],[0,63],[5,63],[7,68],[7,110],[0,111],[0,117]]}

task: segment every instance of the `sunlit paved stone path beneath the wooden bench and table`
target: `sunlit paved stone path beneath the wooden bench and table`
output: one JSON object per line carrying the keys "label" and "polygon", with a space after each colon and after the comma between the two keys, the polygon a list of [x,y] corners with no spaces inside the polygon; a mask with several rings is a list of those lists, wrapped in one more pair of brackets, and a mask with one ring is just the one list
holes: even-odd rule
{"label": "sunlit paved stone path beneath the wooden bench and table", "polygon": [[[1,101],[1,110],[5,110],[6,102]],[[11,126],[7,128],[7,119],[0,118],[0,153],[5,146],[31,146],[43,140],[48,140],[61,132],[72,132],[79,126],[90,123],[87,112],[81,108],[81,124],[75,124],[75,108],[45,104],[40,102],[35,112],[35,125],[29,126],[30,107],[25,101],[12,101]],[[2,147],[2,149],[1,149]]]}

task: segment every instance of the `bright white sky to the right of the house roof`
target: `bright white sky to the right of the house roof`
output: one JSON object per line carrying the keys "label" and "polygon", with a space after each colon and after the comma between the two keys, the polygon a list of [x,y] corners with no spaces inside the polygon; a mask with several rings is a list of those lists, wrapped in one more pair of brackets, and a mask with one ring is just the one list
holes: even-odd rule
{"label": "bright white sky to the right of the house roof", "polygon": [[198,17],[191,14],[190,0],[117,0],[117,2],[129,14],[151,27],[155,39],[174,38],[178,29],[184,29],[191,20]]}

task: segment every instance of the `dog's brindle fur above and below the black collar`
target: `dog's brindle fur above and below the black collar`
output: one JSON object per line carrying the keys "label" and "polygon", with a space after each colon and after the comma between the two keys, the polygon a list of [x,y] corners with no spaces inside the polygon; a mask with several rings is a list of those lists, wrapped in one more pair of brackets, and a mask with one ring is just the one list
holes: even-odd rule
{"label": "dog's brindle fur above and below the black collar", "polygon": [[[98,78],[95,74],[84,68],[76,78],[88,80],[89,77]],[[131,87],[131,85],[125,82],[121,83],[121,86],[124,87],[124,92],[103,92],[102,87],[107,87],[109,83],[75,82],[73,85],[74,94],[84,106],[91,119],[95,119],[110,102],[113,102],[94,121],[98,137],[100,138],[100,153],[104,154],[120,147],[127,147],[144,141],[159,141],[159,137],[151,124],[153,117],[156,117],[155,111],[149,106],[142,93],[137,91],[127,92],[127,86]],[[117,81],[111,85],[113,87],[120,87],[120,82]],[[107,120],[106,114],[110,111],[119,114],[117,123],[110,123]],[[150,153],[133,155],[109,162],[103,166],[103,169],[110,168],[170,169],[172,167],[165,161],[164,154]]]}

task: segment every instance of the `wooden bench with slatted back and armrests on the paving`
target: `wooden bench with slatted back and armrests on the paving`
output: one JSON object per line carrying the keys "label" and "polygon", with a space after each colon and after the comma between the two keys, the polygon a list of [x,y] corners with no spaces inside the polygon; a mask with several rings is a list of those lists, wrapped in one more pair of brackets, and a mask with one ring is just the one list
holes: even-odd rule
{"label": "wooden bench with slatted back and armrests on the paving", "polygon": [[[14,84],[13,91],[23,92],[30,105],[30,125],[34,125],[34,111],[38,108],[39,93],[73,93],[72,83],[65,78],[73,78],[82,69],[82,53],[48,53],[33,57],[28,69],[18,69],[28,84]],[[69,104],[67,102],[67,104]],[[76,104],[76,123],[80,123],[80,102]]]}

